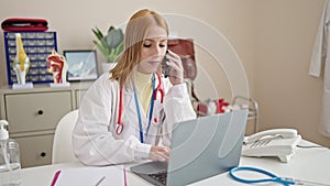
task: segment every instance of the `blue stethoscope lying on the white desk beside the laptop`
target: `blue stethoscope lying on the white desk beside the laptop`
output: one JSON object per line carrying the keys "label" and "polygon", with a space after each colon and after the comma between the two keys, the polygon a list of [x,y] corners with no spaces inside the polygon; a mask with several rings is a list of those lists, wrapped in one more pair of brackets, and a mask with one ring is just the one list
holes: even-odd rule
{"label": "blue stethoscope lying on the white desk beside the laptop", "polygon": [[[237,176],[234,173],[237,172],[255,172],[260,173],[263,175],[268,176],[268,178],[261,178],[261,179],[246,179],[246,178],[241,178]],[[256,167],[249,167],[249,166],[239,166],[239,167],[233,167],[229,172],[230,176],[241,183],[244,184],[257,184],[257,183],[266,183],[266,182],[274,182],[278,184],[283,184],[285,186],[290,186],[290,185],[305,185],[305,186],[330,186],[328,184],[320,184],[320,183],[314,183],[314,182],[306,182],[306,180],[299,180],[299,179],[294,179],[294,178],[287,178],[287,177],[278,177],[275,174],[267,172],[265,169],[256,168]]]}

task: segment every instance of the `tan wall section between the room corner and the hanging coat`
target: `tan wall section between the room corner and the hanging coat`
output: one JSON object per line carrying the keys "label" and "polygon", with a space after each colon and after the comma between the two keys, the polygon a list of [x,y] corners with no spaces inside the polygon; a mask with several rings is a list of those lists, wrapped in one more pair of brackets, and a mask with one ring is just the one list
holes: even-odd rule
{"label": "tan wall section between the room corner and the hanging coat", "polygon": [[330,146],[318,132],[322,78],[308,75],[324,0],[257,0],[255,97],[261,129],[296,128]]}

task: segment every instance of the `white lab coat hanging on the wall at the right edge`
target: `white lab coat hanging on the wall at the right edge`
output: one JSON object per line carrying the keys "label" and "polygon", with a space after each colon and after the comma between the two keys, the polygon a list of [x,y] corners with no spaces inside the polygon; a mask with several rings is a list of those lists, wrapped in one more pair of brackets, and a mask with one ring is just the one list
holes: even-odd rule
{"label": "white lab coat hanging on the wall at the right edge", "polygon": [[319,30],[315,41],[309,74],[320,77],[324,64],[323,101],[319,131],[330,136],[330,3],[326,1]]}

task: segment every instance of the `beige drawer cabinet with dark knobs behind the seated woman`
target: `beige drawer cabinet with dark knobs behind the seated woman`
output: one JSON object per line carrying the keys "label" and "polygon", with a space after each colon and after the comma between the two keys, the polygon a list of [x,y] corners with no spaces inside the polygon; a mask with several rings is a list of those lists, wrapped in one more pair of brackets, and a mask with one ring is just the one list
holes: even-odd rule
{"label": "beige drawer cabinet with dark knobs behind the seated woman", "polygon": [[20,144],[22,167],[51,164],[56,124],[65,113],[79,107],[89,85],[1,88],[0,119],[8,120],[10,138]]}

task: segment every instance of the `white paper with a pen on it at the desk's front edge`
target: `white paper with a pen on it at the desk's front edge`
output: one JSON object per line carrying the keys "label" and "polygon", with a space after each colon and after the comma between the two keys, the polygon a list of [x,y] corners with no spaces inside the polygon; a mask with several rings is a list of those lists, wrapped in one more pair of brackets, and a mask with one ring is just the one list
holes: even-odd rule
{"label": "white paper with a pen on it at the desk's front edge", "polygon": [[95,186],[103,176],[105,179],[98,186],[127,186],[125,169],[123,166],[64,168],[56,172],[52,186]]}

